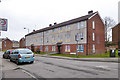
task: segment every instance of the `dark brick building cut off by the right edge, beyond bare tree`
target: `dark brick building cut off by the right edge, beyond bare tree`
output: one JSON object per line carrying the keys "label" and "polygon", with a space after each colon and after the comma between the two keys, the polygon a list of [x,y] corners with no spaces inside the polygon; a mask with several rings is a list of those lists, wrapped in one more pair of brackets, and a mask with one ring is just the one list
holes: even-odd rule
{"label": "dark brick building cut off by the right edge, beyond bare tree", "polygon": [[114,28],[112,28],[112,42],[115,48],[120,49],[120,23],[117,24]]}

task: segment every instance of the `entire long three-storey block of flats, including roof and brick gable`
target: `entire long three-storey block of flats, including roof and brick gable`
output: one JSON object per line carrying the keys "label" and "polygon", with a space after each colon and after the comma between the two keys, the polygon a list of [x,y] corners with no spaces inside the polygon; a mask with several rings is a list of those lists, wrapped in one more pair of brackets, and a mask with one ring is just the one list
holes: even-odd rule
{"label": "entire long three-storey block of flats, including roof and brick gable", "polygon": [[[79,35],[79,42],[75,35]],[[58,44],[63,54],[94,55],[105,52],[104,24],[98,12],[89,11],[88,15],[60,24],[33,31],[25,36],[26,47],[34,51],[56,53]]]}

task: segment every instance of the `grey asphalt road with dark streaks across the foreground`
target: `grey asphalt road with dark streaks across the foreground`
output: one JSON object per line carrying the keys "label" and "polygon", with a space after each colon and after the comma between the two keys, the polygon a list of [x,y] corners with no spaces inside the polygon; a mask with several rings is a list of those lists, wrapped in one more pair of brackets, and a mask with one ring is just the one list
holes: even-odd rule
{"label": "grey asphalt road with dark streaks across the foreground", "polygon": [[0,59],[2,78],[118,78],[118,63],[35,56],[33,64],[16,65],[9,59]]}

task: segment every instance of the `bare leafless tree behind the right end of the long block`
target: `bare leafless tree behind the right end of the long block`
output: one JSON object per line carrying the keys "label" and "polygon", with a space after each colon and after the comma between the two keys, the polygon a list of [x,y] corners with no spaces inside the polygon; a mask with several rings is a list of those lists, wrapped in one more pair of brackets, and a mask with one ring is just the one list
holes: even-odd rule
{"label": "bare leafless tree behind the right end of the long block", "polygon": [[107,43],[109,42],[110,38],[112,37],[112,35],[110,34],[110,31],[112,30],[112,27],[114,27],[116,25],[116,22],[114,21],[114,19],[112,19],[110,17],[105,17],[103,21],[104,21],[104,25],[105,25],[105,27],[104,27],[105,28],[105,46],[107,49]]}

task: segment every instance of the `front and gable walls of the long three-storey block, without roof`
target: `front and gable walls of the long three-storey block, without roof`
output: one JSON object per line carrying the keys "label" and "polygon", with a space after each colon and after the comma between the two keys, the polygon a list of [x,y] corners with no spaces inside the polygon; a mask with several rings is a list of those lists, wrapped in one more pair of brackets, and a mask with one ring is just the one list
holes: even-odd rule
{"label": "front and gable walls of the long three-storey block, without roof", "polygon": [[[95,21],[94,30],[92,29],[92,21]],[[83,27],[80,25],[80,29],[78,29],[79,23],[83,25]],[[61,28],[62,29],[59,27],[26,36],[26,47],[31,49],[31,45],[34,44],[35,51],[40,50],[41,52],[51,53],[58,52],[57,43],[62,42],[61,52],[63,54],[76,53],[77,42],[75,41],[75,35],[77,33],[83,33],[83,39],[81,40],[80,38],[78,44],[84,46],[84,51],[79,52],[79,55],[101,54],[105,52],[104,24],[98,14],[87,21],[61,26]],[[95,41],[92,40],[93,32],[95,33]],[[66,35],[70,37],[67,38]],[[95,44],[95,53],[92,53],[93,44]],[[70,51],[66,51],[66,45],[70,46]],[[55,46],[55,51],[52,51],[52,46]],[[42,47],[42,49],[40,49],[40,47]]]}

